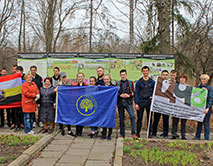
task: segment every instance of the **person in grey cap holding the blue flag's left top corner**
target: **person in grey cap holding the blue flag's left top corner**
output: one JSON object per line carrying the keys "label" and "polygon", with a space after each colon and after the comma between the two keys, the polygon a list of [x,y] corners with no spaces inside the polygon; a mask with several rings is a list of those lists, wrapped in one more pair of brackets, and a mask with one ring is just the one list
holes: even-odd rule
{"label": "person in grey cap holding the blue flag's left top corner", "polygon": [[[61,72],[61,74],[60,74],[60,82],[58,83],[58,86],[60,86],[60,85],[70,85],[67,80],[67,75],[65,72]],[[57,89],[58,89],[58,87],[55,89],[56,92],[57,92]],[[64,136],[65,131],[64,131],[64,125],[62,123],[59,123],[59,130],[61,132],[61,135]],[[71,130],[71,125],[67,125],[67,130],[68,130],[67,136],[76,137],[76,135],[74,135]]]}

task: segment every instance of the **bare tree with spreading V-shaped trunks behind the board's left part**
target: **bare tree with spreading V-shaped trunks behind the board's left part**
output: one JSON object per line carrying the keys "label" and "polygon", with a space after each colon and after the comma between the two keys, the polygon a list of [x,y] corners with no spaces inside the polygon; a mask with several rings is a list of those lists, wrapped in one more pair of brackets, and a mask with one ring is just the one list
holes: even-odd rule
{"label": "bare tree with spreading V-shaped trunks behind the board's left part", "polygon": [[30,9],[36,11],[38,17],[28,17],[30,26],[44,42],[46,52],[55,52],[60,35],[66,31],[64,23],[73,16],[81,1],[36,0],[35,3],[36,9]]}

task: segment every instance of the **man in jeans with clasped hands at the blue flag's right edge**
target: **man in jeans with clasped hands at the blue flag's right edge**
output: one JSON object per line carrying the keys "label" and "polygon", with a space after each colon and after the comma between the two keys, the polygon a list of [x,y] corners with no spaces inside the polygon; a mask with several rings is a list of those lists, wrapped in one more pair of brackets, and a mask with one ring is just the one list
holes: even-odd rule
{"label": "man in jeans with clasped hands at the blue flag's right edge", "polygon": [[127,110],[131,120],[131,134],[132,138],[136,139],[135,134],[135,114],[133,109],[132,98],[134,96],[134,84],[127,79],[127,71],[123,69],[120,71],[121,80],[117,82],[116,86],[119,87],[118,91],[118,113],[120,119],[120,135],[125,137],[125,109]]}

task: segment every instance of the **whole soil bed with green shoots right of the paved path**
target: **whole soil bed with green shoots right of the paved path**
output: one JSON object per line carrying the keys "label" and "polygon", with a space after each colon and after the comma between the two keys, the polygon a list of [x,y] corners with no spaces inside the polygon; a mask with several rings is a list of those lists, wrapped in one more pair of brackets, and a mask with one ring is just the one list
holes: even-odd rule
{"label": "whole soil bed with green shoots right of the paved path", "polygon": [[213,142],[125,139],[123,166],[206,165],[213,163]]}

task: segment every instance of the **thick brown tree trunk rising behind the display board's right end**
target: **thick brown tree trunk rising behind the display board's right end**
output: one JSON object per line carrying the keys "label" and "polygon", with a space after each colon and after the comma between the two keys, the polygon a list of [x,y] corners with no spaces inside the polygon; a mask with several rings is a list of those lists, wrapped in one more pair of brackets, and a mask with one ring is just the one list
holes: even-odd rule
{"label": "thick brown tree trunk rising behind the display board's right end", "polygon": [[168,0],[156,0],[158,10],[158,35],[161,54],[170,53],[170,2]]}

